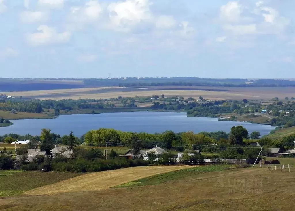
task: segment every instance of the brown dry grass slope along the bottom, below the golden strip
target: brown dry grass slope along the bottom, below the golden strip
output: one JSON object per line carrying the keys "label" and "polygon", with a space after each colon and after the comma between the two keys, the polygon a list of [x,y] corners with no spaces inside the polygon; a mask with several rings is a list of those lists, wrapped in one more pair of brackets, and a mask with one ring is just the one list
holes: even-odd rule
{"label": "brown dry grass slope along the bottom, below the golden strip", "polygon": [[[189,169],[188,169],[189,170]],[[295,170],[295,169],[294,169]],[[1,210],[278,211],[294,209],[295,171],[242,168],[158,184],[1,199]]]}

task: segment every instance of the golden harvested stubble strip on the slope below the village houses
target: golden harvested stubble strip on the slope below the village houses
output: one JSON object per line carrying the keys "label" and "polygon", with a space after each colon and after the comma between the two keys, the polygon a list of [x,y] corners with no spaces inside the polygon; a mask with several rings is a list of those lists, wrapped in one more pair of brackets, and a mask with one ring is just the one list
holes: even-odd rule
{"label": "golden harvested stubble strip on the slope below the village houses", "polygon": [[107,189],[130,181],[153,176],[165,172],[190,168],[191,166],[149,166],[116,169],[105,172],[95,172],[68,179],[45,187],[26,192],[28,195],[57,194],[77,191],[97,191]]}

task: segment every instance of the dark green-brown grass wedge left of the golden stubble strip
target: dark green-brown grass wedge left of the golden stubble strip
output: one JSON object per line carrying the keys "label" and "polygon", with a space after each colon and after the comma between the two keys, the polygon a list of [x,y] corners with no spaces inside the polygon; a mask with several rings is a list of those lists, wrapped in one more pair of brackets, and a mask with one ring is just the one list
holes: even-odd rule
{"label": "dark green-brown grass wedge left of the golden stubble strip", "polygon": [[59,182],[78,175],[81,174],[59,172],[46,172],[45,174],[38,171],[0,170],[0,197],[19,194],[33,188]]}

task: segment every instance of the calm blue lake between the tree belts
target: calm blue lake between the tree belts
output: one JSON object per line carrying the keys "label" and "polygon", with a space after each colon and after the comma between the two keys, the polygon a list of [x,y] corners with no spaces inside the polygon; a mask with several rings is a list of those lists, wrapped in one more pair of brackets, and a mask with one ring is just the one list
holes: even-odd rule
{"label": "calm blue lake between the tree belts", "polygon": [[114,128],[121,131],[162,133],[166,130],[174,132],[206,131],[230,132],[232,126],[242,125],[249,131],[259,131],[266,135],[275,127],[269,125],[251,124],[245,122],[223,122],[217,118],[186,117],[186,113],[173,112],[126,112],[101,114],[63,115],[56,119],[12,120],[14,125],[0,127],[0,135],[17,133],[20,135],[40,135],[42,128],[49,128],[53,133],[68,135],[72,130],[74,135],[98,128]]}

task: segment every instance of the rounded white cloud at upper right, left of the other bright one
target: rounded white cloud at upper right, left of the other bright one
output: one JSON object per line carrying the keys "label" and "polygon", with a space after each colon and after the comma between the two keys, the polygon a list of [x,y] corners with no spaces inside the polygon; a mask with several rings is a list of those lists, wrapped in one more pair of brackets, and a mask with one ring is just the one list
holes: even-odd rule
{"label": "rounded white cloud at upper right, left of the other bright one", "polygon": [[242,13],[242,5],[239,1],[230,1],[220,7],[219,17],[227,22],[239,22]]}

